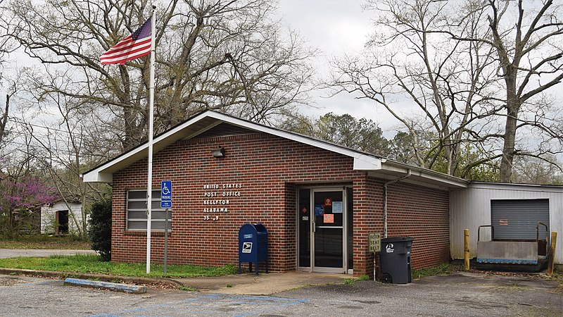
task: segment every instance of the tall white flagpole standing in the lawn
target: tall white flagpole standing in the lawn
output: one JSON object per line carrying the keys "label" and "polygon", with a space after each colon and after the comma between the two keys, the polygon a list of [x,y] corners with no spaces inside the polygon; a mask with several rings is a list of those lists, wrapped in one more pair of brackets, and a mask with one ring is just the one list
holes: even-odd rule
{"label": "tall white flagpole standing in the lawn", "polygon": [[154,120],[154,66],[155,66],[155,33],[156,33],[156,6],[153,6],[151,20],[151,66],[150,82],[148,85],[149,112],[148,112],[148,180],[146,185],[146,273],[151,273],[151,222],[152,222],[152,194],[153,194],[153,120]]}

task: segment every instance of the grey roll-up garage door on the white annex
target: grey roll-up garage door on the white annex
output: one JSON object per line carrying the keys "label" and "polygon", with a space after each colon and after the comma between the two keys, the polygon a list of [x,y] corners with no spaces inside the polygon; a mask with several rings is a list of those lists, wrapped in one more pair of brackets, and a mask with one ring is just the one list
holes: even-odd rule
{"label": "grey roll-up garage door on the white annex", "polygon": [[[536,240],[536,224],[550,227],[549,199],[491,200],[491,224],[495,240]],[[540,225],[540,239],[545,239]]]}

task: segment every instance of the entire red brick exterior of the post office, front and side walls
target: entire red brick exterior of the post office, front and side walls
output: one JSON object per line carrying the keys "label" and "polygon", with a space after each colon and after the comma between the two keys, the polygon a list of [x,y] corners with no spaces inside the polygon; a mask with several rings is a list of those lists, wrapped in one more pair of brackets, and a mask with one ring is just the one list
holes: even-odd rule
{"label": "entire red brick exterior of the post office, front and side walls", "polygon": [[[223,159],[211,156],[222,146]],[[310,185],[353,185],[354,273],[370,274],[369,232],[383,232],[383,181],[353,170],[353,159],[272,135],[254,133],[189,139],[154,155],[153,189],[173,182],[172,234],[168,263],[238,263],[238,231],[263,223],[269,232],[270,269],[296,269],[296,189]],[[205,184],[241,184],[229,197],[228,213],[204,213]],[[127,232],[127,189],[146,187],[146,160],[113,175],[112,261],[144,262],[146,233]],[[389,187],[389,235],[415,237],[413,267],[448,261],[448,192],[402,183]],[[219,216],[219,220],[203,220]],[[164,237],[153,232],[152,263],[163,262]]]}

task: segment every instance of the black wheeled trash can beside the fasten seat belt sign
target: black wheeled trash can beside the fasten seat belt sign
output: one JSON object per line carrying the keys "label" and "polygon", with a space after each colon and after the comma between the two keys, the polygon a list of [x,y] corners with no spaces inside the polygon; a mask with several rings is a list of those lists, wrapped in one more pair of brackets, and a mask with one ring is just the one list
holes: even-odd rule
{"label": "black wheeled trash can beside the fasten seat belt sign", "polygon": [[410,277],[410,248],[412,237],[388,237],[381,239],[381,273],[383,280],[394,284],[412,282]]}

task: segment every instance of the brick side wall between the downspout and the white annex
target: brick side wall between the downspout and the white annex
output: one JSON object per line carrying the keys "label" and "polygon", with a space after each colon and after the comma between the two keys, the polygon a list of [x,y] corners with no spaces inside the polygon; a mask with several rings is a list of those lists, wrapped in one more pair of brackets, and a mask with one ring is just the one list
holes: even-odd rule
{"label": "brick side wall between the downspout and the white annex", "polygon": [[450,261],[450,207],[445,190],[398,182],[388,185],[388,237],[414,237],[412,268]]}

